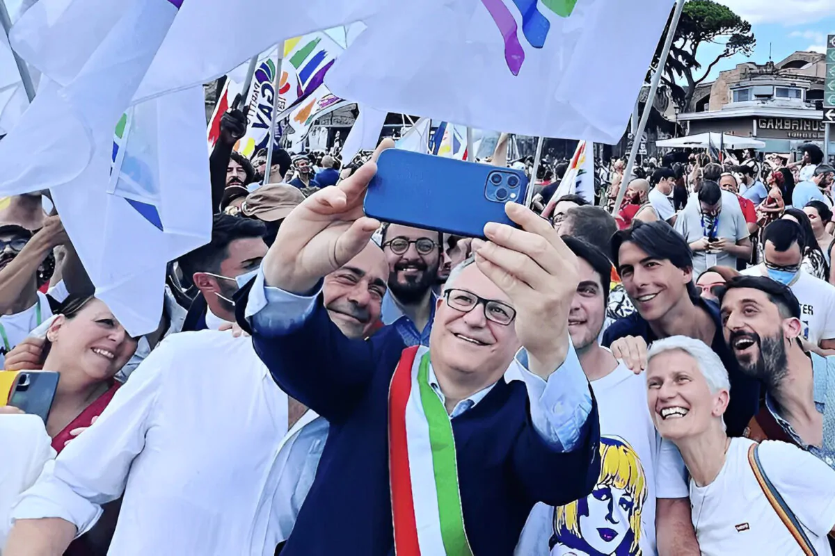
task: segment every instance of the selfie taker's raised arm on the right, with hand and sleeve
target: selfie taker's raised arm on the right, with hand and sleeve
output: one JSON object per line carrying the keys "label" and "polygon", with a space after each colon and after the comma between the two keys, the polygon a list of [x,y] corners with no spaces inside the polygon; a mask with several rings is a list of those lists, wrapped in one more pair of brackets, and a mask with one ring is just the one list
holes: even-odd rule
{"label": "selfie taker's raised arm on the right, with hand and sleeve", "polygon": [[512,468],[530,500],[560,505],[590,493],[600,473],[597,409],[568,331],[578,262],[548,221],[517,203],[505,211],[522,229],[488,223],[488,242],[473,248],[478,268],[514,302],[527,356],[520,363],[529,423],[517,438]]}

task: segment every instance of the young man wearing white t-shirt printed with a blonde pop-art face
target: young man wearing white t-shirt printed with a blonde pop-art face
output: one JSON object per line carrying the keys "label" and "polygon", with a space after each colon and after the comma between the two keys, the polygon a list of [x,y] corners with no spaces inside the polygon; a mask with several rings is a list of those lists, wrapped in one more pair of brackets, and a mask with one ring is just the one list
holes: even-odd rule
{"label": "young man wearing white t-shirt printed with a blonde pop-art face", "polygon": [[[630,553],[640,548],[645,554],[697,555],[699,545],[691,523],[681,456],[672,443],[662,441],[655,432],[646,403],[645,379],[617,361],[597,341],[606,317],[609,258],[579,239],[564,235],[563,241],[579,262],[579,283],[569,312],[569,335],[595,391],[600,413],[605,470],[598,483],[608,484],[613,477],[607,462],[620,463],[614,467],[630,468],[634,474],[631,480],[625,481],[628,484],[623,482],[628,473],[619,474],[617,488],[631,488],[630,494],[634,496],[631,507],[613,500],[605,510],[610,517],[600,521],[595,516],[601,513],[594,509],[609,502],[598,498],[599,495],[592,494],[560,508],[537,503],[519,538],[516,553],[524,556],[558,556],[574,551],[611,554],[626,553],[625,548],[631,546]],[[628,454],[628,457],[609,457],[606,453]],[[582,517],[569,524],[571,518],[566,516],[572,512]]]}

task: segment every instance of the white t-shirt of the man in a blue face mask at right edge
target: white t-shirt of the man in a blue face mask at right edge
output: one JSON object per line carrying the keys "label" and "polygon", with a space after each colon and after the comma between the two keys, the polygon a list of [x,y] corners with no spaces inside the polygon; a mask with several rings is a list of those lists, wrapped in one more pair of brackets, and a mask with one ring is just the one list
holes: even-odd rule
{"label": "white t-shirt of the man in a blue face mask at right edge", "polygon": [[[762,264],[741,272],[747,276],[768,276]],[[803,338],[817,345],[821,340],[835,338],[835,286],[815,278],[801,268],[789,288],[800,303]]]}

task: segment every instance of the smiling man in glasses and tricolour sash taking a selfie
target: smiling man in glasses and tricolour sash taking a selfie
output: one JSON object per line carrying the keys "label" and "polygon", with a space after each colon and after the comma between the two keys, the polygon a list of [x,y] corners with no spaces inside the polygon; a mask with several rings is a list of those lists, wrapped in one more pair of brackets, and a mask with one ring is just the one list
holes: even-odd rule
{"label": "smiling man in glasses and tricolour sash taking a selfie", "polygon": [[[436,302],[429,347],[391,328],[345,338],[321,278],[379,227],[362,212],[375,172],[296,208],[240,299],[273,378],[331,423],[282,554],[512,553],[534,503],[584,497],[600,473],[596,404],[568,333],[577,258],[508,203],[521,229],[485,226]],[[511,365],[522,380],[505,381]]]}

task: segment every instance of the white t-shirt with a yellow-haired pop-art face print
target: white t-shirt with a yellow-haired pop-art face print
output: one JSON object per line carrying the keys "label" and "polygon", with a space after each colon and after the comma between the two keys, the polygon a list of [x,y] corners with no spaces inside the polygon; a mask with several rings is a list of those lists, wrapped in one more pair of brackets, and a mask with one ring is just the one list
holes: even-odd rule
{"label": "white t-shirt with a yellow-haired pop-art face print", "polygon": [[641,553],[651,556],[656,553],[655,498],[687,497],[681,455],[655,432],[646,403],[646,379],[620,363],[604,378],[593,381],[591,388],[600,413],[600,441],[605,450],[602,468],[617,470],[618,476],[601,472],[585,500],[559,509],[556,517],[564,525],[551,549],[554,508],[537,503],[519,537],[519,556],[614,554],[621,553],[617,552],[619,547],[623,553],[635,553],[626,550],[635,538],[634,523],[640,523]]}

